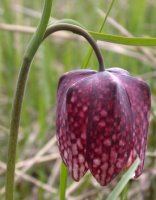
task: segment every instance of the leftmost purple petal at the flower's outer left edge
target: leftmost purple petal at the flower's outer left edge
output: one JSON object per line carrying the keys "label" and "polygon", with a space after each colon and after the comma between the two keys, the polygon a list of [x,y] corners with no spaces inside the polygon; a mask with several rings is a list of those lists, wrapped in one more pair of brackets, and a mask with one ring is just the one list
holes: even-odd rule
{"label": "leftmost purple petal at the flower's outer left edge", "polygon": [[[69,153],[69,147],[71,146],[70,138],[70,124],[68,124],[68,111],[66,96],[69,88],[75,85],[79,80],[84,79],[95,73],[92,70],[77,70],[70,73],[66,73],[60,78],[57,92],[57,108],[56,108],[56,127],[58,146],[61,157],[66,165],[70,166],[71,154]],[[74,148],[74,147],[73,147]],[[71,171],[71,167],[70,167]],[[76,174],[76,172],[75,172]],[[76,179],[76,178],[75,178]]]}

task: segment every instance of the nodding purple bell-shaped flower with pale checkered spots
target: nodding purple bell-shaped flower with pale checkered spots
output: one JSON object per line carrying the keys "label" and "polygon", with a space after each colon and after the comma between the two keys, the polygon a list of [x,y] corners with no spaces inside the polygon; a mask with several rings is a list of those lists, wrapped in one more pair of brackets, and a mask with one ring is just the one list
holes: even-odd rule
{"label": "nodding purple bell-shaped flower with pale checkered spots", "polygon": [[135,177],[142,173],[150,102],[148,85],[120,68],[75,70],[60,78],[58,146],[75,181],[90,170],[107,185],[137,156]]}

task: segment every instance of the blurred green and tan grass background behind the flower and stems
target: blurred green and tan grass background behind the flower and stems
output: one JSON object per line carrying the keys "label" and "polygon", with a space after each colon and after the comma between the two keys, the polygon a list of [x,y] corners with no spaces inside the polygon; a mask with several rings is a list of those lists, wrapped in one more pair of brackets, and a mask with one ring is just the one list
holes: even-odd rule
{"label": "blurred green and tan grass background behind the flower and stems", "polygon": [[[111,0],[57,0],[54,19],[72,18],[98,31]],[[43,1],[0,0],[0,199],[3,199],[11,105],[22,57],[36,27]],[[156,37],[156,1],[116,0],[103,32],[122,36]],[[20,25],[20,26],[19,26]],[[128,199],[156,200],[156,48],[98,42],[106,67],[123,67],[146,80],[152,90],[148,150],[143,175],[129,184]],[[60,157],[55,139],[55,100],[58,78],[81,68],[89,45],[67,32],[48,38],[30,71],[22,109],[17,150],[17,200],[59,199]],[[95,56],[89,68],[97,69]],[[68,200],[102,200],[116,180],[100,187],[87,174],[68,181]]]}

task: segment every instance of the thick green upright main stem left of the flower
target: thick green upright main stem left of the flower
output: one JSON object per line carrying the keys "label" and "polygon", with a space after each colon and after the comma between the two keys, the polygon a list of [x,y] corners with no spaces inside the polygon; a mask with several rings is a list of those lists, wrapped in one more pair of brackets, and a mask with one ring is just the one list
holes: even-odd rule
{"label": "thick green upright main stem left of the flower", "polygon": [[42,41],[43,35],[48,25],[51,13],[51,7],[52,7],[52,0],[45,0],[43,14],[40,23],[38,25],[36,32],[32,37],[32,40],[28,45],[28,48],[26,49],[21,70],[19,73],[19,78],[17,82],[16,92],[12,107],[12,116],[10,125],[7,173],[6,173],[6,194],[5,194],[6,200],[13,200],[16,146],[17,146],[19,123],[20,123],[21,107],[22,107],[27,76],[32,59]]}

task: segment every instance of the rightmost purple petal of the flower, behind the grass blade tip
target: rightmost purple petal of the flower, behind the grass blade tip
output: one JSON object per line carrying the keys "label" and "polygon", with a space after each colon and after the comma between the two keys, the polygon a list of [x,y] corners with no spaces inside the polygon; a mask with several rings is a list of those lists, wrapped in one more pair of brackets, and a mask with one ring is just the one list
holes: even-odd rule
{"label": "rightmost purple petal of the flower, behind the grass blade tip", "polygon": [[147,145],[151,106],[150,89],[142,80],[120,74],[116,74],[116,76],[119,77],[125,87],[131,103],[133,113],[133,143],[136,153],[141,160],[135,173],[135,177],[138,177],[143,171]]}

